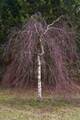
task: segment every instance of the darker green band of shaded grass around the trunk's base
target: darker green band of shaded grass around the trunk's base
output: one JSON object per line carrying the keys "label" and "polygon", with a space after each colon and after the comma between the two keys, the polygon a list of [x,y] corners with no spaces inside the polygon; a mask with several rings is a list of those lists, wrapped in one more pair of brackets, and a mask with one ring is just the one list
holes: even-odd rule
{"label": "darker green band of shaded grass around the trunk's base", "polygon": [[67,100],[52,100],[52,99],[44,99],[43,101],[38,101],[36,99],[21,99],[21,98],[5,98],[0,99],[1,105],[6,105],[10,107],[16,107],[21,109],[26,109],[27,107],[32,108],[45,108],[45,107],[70,107],[73,104]]}

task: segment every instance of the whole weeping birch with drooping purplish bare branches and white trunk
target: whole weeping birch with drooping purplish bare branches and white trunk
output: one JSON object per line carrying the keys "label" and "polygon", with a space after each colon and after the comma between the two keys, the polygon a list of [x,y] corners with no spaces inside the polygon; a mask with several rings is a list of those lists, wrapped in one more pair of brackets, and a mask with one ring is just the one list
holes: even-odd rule
{"label": "whole weeping birch with drooping purplish bare branches and white trunk", "polygon": [[[41,15],[33,15],[22,30],[8,36],[6,70],[2,84],[7,87],[37,88],[51,92],[79,90],[74,80],[74,64],[79,59],[75,34],[69,20],[61,16],[47,25]],[[75,66],[75,67],[74,67]]]}

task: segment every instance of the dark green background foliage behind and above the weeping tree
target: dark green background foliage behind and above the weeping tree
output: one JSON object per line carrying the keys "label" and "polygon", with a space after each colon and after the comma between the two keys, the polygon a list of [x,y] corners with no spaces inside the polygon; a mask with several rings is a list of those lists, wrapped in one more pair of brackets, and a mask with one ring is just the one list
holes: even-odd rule
{"label": "dark green background foliage behind and above the weeping tree", "polygon": [[77,33],[80,51],[80,0],[0,0],[0,55],[12,27],[21,27],[31,15],[40,12],[47,23],[57,17],[69,17]]}

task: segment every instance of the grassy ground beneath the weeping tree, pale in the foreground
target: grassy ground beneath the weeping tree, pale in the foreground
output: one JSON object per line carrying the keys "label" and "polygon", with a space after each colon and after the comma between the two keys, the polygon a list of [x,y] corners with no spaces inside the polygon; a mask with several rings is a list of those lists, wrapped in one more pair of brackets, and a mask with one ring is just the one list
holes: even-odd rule
{"label": "grassy ground beneath the weeping tree, pale in the foreground", "polygon": [[33,91],[0,89],[0,120],[80,120],[80,95],[45,95],[40,102]]}

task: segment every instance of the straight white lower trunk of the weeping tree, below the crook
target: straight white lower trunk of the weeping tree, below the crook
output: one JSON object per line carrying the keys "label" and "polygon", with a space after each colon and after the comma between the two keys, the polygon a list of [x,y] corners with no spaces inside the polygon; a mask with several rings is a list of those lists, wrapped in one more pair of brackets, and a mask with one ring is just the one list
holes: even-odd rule
{"label": "straight white lower trunk of the weeping tree, below the crook", "polygon": [[42,85],[41,85],[41,60],[38,55],[38,99],[42,99]]}

